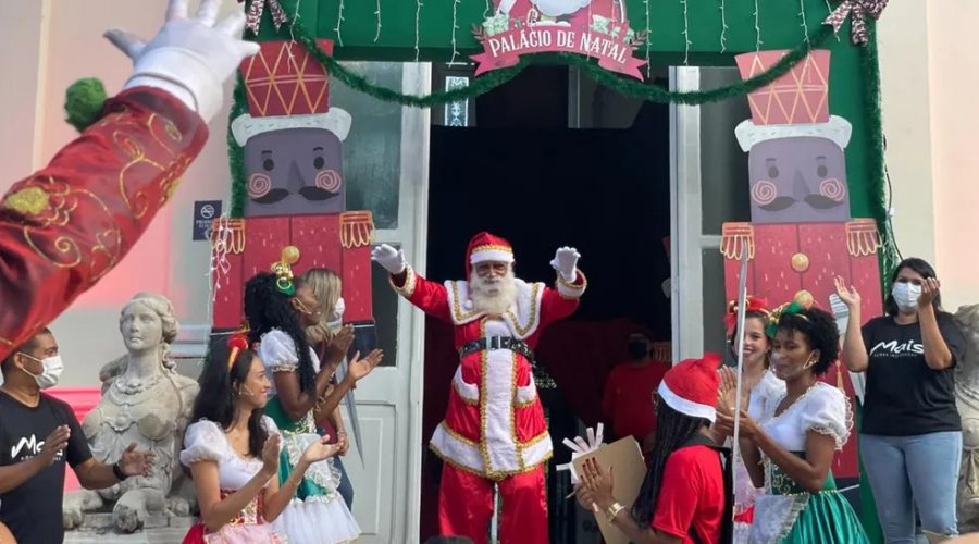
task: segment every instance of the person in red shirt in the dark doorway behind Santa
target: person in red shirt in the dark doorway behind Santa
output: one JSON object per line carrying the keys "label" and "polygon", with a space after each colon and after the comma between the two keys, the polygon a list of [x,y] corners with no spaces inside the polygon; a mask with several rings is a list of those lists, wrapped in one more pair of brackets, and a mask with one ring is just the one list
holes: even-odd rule
{"label": "person in red shirt in the dark doorway behind Santa", "polygon": [[644,331],[629,335],[627,347],[630,360],[612,369],[602,396],[602,410],[612,433],[617,438],[634,436],[647,457],[653,449],[653,433],[656,430],[653,394],[670,369],[668,362],[653,359],[652,344],[652,337]]}

